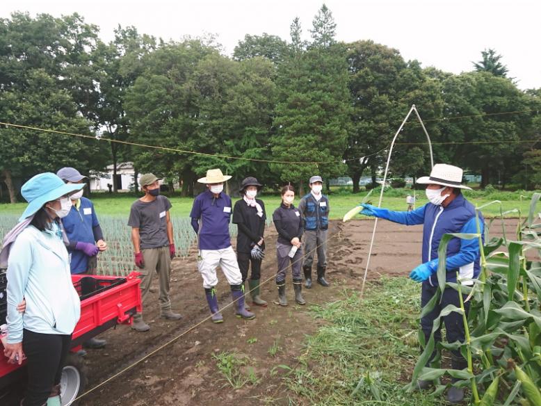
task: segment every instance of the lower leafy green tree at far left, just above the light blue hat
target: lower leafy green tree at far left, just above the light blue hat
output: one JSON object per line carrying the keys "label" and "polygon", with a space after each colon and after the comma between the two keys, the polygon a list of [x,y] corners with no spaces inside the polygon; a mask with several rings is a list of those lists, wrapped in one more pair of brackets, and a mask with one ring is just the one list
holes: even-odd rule
{"label": "lower leafy green tree at far left, just above the light blue hat", "polygon": [[[56,80],[43,69],[26,75],[25,92],[5,92],[0,116],[31,127],[90,135],[90,123],[78,114],[70,92],[56,88]],[[83,173],[104,165],[102,143],[56,133],[27,129],[1,129],[0,170],[10,202],[17,201],[17,186],[38,172],[56,172],[74,166]]]}

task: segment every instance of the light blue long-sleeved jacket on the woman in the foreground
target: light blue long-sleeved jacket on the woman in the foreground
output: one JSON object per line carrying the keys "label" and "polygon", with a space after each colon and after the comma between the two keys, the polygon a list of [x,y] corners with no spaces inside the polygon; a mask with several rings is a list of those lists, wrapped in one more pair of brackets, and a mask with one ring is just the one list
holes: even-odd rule
{"label": "light blue long-sleeved jacket on the woman in the foreground", "polygon": [[[81,302],[72,284],[70,261],[53,229],[26,227],[13,243],[8,259],[8,343],[22,341],[23,328],[42,334],[72,334]],[[26,299],[26,311],[17,304]]]}

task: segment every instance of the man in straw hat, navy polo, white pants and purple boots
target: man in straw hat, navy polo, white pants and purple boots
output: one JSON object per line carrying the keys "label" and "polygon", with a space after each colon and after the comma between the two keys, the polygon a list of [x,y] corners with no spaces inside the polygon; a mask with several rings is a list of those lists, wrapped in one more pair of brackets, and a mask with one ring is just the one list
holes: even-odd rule
{"label": "man in straw hat, navy polo, white pants and purple boots", "polygon": [[222,268],[231,286],[231,294],[236,301],[236,316],[247,320],[255,318],[255,314],[245,309],[241,270],[231,246],[231,197],[223,192],[223,184],[229,179],[231,176],[224,176],[219,169],[208,170],[206,177],[197,180],[200,184],[206,184],[207,190],[195,197],[190,213],[191,224],[199,243],[197,268],[203,277],[203,287],[213,323],[223,322],[216,297],[218,266]]}

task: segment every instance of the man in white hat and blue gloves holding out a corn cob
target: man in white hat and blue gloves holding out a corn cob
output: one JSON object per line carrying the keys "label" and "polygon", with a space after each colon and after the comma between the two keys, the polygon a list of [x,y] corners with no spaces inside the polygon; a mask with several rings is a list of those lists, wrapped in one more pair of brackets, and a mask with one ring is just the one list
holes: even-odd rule
{"label": "man in white hat and blue gloves holding out a corn cob", "polygon": [[[366,216],[385,218],[404,225],[423,225],[423,263],[414,268],[410,278],[415,282],[422,282],[421,307],[424,307],[437,291],[437,249],[439,241],[444,234],[467,233],[476,234],[476,213],[473,204],[468,202],[462,195],[462,189],[470,189],[462,184],[462,169],[438,163],[434,165],[429,177],[421,177],[418,184],[425,184],[426,197],[429,202],[419,209],[413,211],[389,211],[379,209],[370,204],[361,204],[364,209],[361,211]],[[483,234],[483,217],[480,213],[481,234]],[[453,238],[447,247],[446,257],[446,282],[457,282],[459,273],[462,284],[471,285],[481,272],[480,252],[478,239],[462,240]],[[442,294],[442,300],[438,302],[429,314],[421,318],[421,330],[425,335],[425,342],[428,342],[433,322],[439,316],[442,309],[449,304],[460,307],[458,291],[446,288]],[[469,302],[465,302],[466,311]],[[452,312],[444,317],[446,338],[449,343],[465,340],[465,330],[462,323],[462,315]],[[442,340],[440,331],[435,333],[435,341]],[[435,354],[428,361],[427,366],[432,362]],[[460,354],[460,351],[452,351],[451,365],[453,369],[464,369],[467,362]],[[453,382],[456,382],[453,378]],[[432,381],[419,380],[420,389],[428,389]],[[451,387],[447,393],[447,400],[451,403],[460,403],[464,398],[464,389]]]}

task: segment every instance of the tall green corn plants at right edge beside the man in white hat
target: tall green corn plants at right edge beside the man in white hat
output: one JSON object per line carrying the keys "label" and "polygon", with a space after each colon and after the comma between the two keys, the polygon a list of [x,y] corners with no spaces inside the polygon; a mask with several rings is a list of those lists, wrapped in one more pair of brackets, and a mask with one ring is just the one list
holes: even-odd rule
{"label": "tall green corn plants at right edge beside the man in white hat", "polygon": [[[446,234],[438,248],[438,287],[435,297],[421,310],[428,314],[439,300],[444,289],[459,292],[460,307],[448,306],[435,320],[433,332],[412,373],[407,389],[413,390],[417,380],[439,380],[444,375],[469,380],[471,403],[474,405],[513,405],[524,399],[528,405],[541,406],[541,238],[536,224],[536,205],[541,198],[534,193],[528,217],[522,220],[519,211],[516,241],[506,236],[502,222],[503,237],[489,238],[485,227],[485,244],[481,225],[477,234]],[[501,202],[491,202],[500,204]],[[486,205],[485,205],[486,206]],[[479,212],[482,207],[479,207]],[[501,218],[509,212],[500,210]],[[479,216],[478,216],[479,218]],[[453,238],[478,238],[481,249],[481,275],[473,286],[467,286],[458,278],[456,284],[446,283],[446,250]],[[503,250],[500,250],[503,248]],[[529,252],[526,258],[526,252]],[[535,252],[538,259],[532,260]],[[469,281],[471,283],[471,281]],[[463,296],[470,303],[466,314]],[[464,343],[435,343],[434,332],[442,319],[451,312],[462,315],[465,326]],[[454,371],[427,367],[434,350],[460,350],[467,359],[467,368]],[[437,381],[439,382],[439,381]],[[463,382],[457,382],[461,385]],[[437,385],[435,393],[444,387]],[[524,403],[523,402],[523,403]]]}

